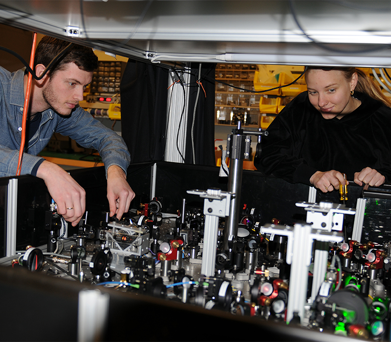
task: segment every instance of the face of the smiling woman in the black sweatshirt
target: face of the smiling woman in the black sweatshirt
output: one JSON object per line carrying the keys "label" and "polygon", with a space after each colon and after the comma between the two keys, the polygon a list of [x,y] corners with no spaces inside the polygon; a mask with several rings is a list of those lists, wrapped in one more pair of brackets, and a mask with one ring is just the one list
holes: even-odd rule
{"label": "face of the smiling woman in the black sweatshirt", "polygon": [[305,75],[305,82],[309,101],[325,119],[340,119],[357,107],[350,96],[357,84],[357,73],[347,81],[340,70],[311,69]]}

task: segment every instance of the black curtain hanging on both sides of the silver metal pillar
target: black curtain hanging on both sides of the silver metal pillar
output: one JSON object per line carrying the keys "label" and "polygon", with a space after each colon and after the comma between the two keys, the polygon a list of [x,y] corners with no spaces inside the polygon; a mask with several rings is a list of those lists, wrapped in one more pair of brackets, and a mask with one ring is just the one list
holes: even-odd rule
{"label": "black curtain hanging on both sides of the silver metal pillar", "polygon": [[[193,163],[191,129],[197,93],[198,65],[192,65],[186,163]],[[215,165],[215,64],[202,65],[201,87],[194,125],[195,164]],[[131,162],[164,160],[166,143],[168,69],[129,60],[121,80],[122,137]],[[207,77],[207,78],[205,78]],[[178,86],[178,85],[175,85]]]}

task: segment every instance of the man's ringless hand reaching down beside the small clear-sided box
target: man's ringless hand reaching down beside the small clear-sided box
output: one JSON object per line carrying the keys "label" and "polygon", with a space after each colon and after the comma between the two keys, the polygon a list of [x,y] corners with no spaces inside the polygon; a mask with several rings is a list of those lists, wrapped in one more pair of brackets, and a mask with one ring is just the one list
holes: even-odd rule
{"label": "man's ringless hand reaching down beside the small clear-sided box", "polygon": [[128,212],[130,202],[134,198],[134,192],[126,180],[124,170],[117,165],[111,165],[107,170],[107,198],[110,217],[116,214],[119,220]]}

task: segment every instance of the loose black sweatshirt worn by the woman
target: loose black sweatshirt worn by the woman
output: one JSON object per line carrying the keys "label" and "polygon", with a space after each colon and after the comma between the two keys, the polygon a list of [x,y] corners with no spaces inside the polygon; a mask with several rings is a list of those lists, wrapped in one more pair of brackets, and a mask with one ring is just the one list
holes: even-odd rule
{"label": "loose black sweatshirt worn by the woman", "polygon": [[308,93],[293,99],[262,138],[259,171],[290,183],[311,185],[316,171],[337,170],[353,180],[366,167],[391,181],[391,108],[367,94],[354,92],[361,105],[341,119],[325,119]]}

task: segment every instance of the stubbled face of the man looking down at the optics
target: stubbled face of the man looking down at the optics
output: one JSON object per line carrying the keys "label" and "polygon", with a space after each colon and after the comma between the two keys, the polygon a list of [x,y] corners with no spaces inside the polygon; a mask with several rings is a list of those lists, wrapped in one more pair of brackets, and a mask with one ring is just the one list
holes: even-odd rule
{"label": "stubbled face of the man looking down at the optics", "polygon": [[47,105],[61,115],[70,115],[83,100],[83,91],[92,81],[92,72],[84,71],[74,63],[57,71],[45,84],[42,95]]}

